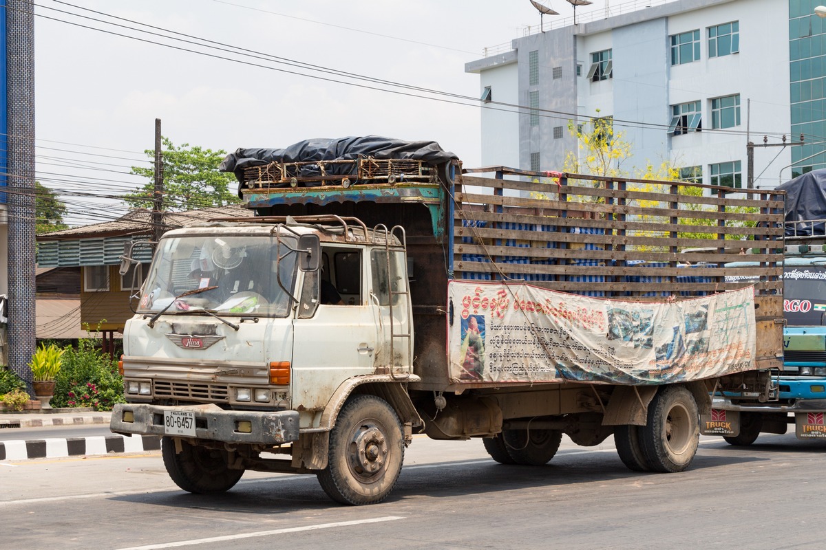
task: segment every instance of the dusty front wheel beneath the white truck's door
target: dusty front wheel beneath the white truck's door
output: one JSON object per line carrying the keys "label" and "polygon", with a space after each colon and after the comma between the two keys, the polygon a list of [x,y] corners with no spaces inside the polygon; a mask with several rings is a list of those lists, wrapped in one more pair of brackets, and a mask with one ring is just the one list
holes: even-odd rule
{"label": "dusty front wheel beneath the white truck's door", "polygon": [[401,422],[386,401],[362,395],[347,402],[330,431],[327,468],[316,475],[336,502],[375,504],[396,485],[405,458]]}

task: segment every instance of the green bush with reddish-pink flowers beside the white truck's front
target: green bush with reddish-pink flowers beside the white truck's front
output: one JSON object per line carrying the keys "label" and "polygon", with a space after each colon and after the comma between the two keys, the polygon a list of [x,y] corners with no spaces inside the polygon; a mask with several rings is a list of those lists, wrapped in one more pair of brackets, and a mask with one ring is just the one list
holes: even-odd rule
{"label": "green bush with reddish-pink flowers beside the white truck's front", "polygon": [[78,348],[65,348],[63,364],[55,378],[52,407],[92,407],[111,411],[124,402],[123,378],[117,361],[97,348],[97,342],[83,338]]}

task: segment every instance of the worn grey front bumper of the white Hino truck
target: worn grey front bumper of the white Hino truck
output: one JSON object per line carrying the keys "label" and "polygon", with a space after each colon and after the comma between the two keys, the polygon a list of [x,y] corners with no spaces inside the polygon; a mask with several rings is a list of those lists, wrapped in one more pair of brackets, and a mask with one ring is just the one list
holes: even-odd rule
{"label": "worn grey front bumper of the white Hino truck", "polygon": [[[199,440],[266,445],[298,440],[298,411],[225,411],[217,405],[163,407],[119,403],[112,409],[109,428],[116,434],[167,435],[164,411],[192,412]],[[131,413],[132,421],[124,420],[125,413]],[[249,433],[238,430],[242,421],[250,423]]]}

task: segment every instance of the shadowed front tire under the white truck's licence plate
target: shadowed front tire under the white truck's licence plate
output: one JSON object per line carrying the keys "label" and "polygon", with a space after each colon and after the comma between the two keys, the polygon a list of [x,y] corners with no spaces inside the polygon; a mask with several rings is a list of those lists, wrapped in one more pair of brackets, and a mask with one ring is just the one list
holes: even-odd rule
{"label": "shadowed front tire under the white truck's licence plate", "polygon": [[175,440],[164,437],[160,444],[164,466],[175,485],[197,495],[229,491],[244,475],[244,470],[230,470],[226,451],[196,447],[181,441],[175,452]]}

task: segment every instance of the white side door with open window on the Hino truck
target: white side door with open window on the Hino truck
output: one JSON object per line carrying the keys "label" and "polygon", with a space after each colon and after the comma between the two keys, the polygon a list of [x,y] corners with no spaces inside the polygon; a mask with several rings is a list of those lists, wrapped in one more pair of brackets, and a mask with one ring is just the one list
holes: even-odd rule
{"label": "white side door with open window on the Hino truck", "polygon": [[[347,378],[373,374],[377,327],[363,248],[324,248],[324,271],[304,274],[293,319],[292,407],[324,407]],[[341,304],[321,303],[320,280]]]}

